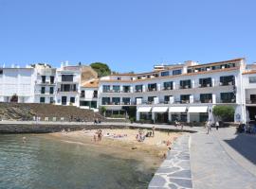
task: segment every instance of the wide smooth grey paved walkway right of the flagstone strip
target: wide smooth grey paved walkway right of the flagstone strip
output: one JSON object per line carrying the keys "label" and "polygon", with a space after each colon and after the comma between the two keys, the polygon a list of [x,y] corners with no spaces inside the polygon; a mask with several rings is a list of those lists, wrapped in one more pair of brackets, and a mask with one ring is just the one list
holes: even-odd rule
{"label": "wide smooth grey paved walkway right of the flagstone strip", "polygon": [[[241,159],[239,152],[230,149],[224,140],[232,129],[219,129],[209,135],[198,132],[191,135],[192,183],[194,189],[255,189],[256,177]],[[225,134],[226,133],[226,134]],[[229,135],[227,135],[229,133]],[[225,144],[226,143],[226,144]],[[245,151],[250,150],[245,145]],[[254,143],[254,146],[256,143]],[[229,150],[227,150],[229,148]],[[256,153],[256,151],[254,151]],[[240,157],[241,158],[241,157]],[[255,164],[251,163],[251,166]]]}

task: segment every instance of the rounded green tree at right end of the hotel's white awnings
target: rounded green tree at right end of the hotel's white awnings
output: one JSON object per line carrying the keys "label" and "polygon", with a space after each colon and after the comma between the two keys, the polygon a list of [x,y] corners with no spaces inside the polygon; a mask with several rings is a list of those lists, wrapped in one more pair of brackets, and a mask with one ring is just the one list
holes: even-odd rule
{"label": "rounded green tree at right end of the hotel's white awnings", "polygon": [[234,120],[234,108],[232,106],[214,106],[212,113],[222,121]]}

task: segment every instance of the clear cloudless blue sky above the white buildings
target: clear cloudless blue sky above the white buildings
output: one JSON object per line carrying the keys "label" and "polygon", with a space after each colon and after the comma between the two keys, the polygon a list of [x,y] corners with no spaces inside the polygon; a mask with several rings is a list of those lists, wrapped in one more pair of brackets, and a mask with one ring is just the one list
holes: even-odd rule
{"label": "clear cloudless blue sky above the white buildings", "polygon": [[256,61],[255,0],[0,0],[0,65]]}

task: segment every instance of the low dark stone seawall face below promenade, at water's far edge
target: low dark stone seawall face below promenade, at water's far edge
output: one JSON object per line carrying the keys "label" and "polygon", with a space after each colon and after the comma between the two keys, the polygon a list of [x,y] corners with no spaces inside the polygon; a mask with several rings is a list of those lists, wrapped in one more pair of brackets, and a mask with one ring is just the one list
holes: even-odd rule
{"label": "low dark stone seawall face below promenade, at water's far edge", "polygon": [[124,129],[121,125],[50,125],[50,124],[1,124],[0,133],[48,133],[59,132],[62,129],[80,130],[80,129]]}

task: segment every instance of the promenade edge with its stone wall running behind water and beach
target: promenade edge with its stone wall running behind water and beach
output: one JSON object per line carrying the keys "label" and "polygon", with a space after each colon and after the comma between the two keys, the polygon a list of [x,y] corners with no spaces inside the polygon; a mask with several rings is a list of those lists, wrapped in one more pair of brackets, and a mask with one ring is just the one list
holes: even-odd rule
{"label": "promenade edge with its stone wall running behind water and beach", "polygon": [[155,129],[171,130],[171,131],[188,131],[193,132],[195,129],[184,127],[184,129],[176,129],[171,125],[152,125],[152,124],[136,124],[125,122],[102,122],[94,124],[93,122],[47,122],[47,121],[1,121],[0,133],[47,133],[58,132],[62,129],[80,130],[80,129]]}

